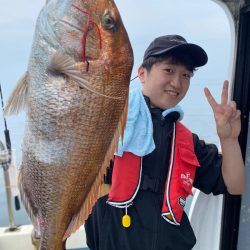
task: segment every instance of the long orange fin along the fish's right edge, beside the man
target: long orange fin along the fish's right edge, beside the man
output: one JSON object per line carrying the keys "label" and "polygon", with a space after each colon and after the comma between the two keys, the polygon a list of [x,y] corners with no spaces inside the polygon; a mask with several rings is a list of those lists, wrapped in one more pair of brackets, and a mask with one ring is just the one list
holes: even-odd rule
{"label": "long orange fin along the fish's right edge, beside the man", "polygon": [[92,185],[90,192],[88,193],[84,203],[79,209],[79,212],[73,216],[64,234],[63,241],[66,240],[76,230],[78,230],[80,226],[84,223],[84,221],[88,218],[89,214],[91,213],[92,207],[94,206],[101,192],[101,186],[103,184],[103,176],[106,173],[107,166],[109,166],[110,160],[113,159],[114,153],[117,152],[119,136],[123,137],[124,128],[125,128],[126,121],[127,121],[127,113],[128,113],[128,100],[126,100],[123,114],[120,118],[119,124],[117,126],[117,130],[110,144],[108,152],[105,156],[101,170],[99,171],[94,181],[94,184]]}

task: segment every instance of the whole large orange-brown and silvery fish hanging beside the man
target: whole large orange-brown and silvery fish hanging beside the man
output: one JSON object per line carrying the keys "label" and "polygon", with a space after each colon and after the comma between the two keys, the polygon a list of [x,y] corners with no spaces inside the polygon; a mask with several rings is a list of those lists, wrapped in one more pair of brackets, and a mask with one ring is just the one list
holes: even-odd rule
{"label": "whole large orange-brown and silvery fish hanging beside the man", "polygon": [[114,1],[47,1],[5,108],[26,107],[19,183],[41,250],[65,249],[91,212],[125,126],[132,66]]}

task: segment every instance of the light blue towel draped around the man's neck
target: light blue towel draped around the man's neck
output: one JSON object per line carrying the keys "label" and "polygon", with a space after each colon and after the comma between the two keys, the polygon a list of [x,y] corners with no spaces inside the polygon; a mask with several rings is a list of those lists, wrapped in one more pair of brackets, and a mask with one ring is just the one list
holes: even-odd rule
{"label": "light blue towel draped around the man's neck", "polygon": [[[183,111],[180,106],[166,109],[162,112],[162,115],[165,117],[174,111],[180,114],[179,120],[181,120],[183,118]],[[137,156],[144,156],[151,153],[154,149],[155,143],[151,114],[142,94],[141,87],[136,87],[129,92],[128,117],[123,143],[120,138],[116,155],[122,156],[123,152],[126,151]]]}

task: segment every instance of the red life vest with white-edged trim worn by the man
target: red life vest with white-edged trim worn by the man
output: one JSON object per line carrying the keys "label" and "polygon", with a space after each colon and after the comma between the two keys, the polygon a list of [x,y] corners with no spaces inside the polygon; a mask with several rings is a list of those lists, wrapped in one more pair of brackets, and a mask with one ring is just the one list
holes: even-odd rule
{"label": "red life vest with white-edged trim worn by the man", "polygon": [[[122,157],[115,156],[108,204],[120,208],[132,204],[140,187],[142,160],[130,152],[124,152]],[[191,131],[176,122],[161,212],[169,223],[180,225],[186,198],[192,194],[196,167],[199,166]]]}

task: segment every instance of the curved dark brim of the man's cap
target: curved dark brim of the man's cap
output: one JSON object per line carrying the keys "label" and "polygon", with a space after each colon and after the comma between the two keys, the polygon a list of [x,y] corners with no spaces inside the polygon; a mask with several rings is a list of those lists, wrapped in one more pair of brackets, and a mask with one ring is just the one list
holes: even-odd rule
{"label": "curved dark brim of the man's cap", "polygon": [[205,52],[205,50],[203,50],[200,46],[193,44],[193,43],[184,43],[184,44],[175,45],[173,47],[157,51],[151,54],[151,56],[162,55],[169,51],[173,51],[173,52],[178,51],[178,52],[183,52],[185,54],[189,54],[190,58],[192,59],[194,63],[193,64],[194,67],[203,66],[208,61],[207,53]]}

